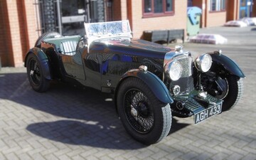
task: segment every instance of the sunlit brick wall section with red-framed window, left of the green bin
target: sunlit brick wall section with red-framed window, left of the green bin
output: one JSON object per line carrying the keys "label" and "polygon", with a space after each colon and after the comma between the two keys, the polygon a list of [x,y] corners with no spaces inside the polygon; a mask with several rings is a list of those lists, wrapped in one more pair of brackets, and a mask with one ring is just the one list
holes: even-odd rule
{"label": "sunlit brick wall section with red-framed window, left of the green bin", "polygon": [[[146,30],[171,28],[186,30],[187,0],[168,2],[169,4],[163,3],[164,9],[161,9],[161,6],[155,7],[153,4],[146,4],[146,1],[128,1],[127,18],[130,21],[134,38],[141,38],[143,31]],[[146,5],[151,5],[151,7],[146,8]],[[167,5],[169,5],[169,8]],[[154,9],[158,11],[154,11]]]}

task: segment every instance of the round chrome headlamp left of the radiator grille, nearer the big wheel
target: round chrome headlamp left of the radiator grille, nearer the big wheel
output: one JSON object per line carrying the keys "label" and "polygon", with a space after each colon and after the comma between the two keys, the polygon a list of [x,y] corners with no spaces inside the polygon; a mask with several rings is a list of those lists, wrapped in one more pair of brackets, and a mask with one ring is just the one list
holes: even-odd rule
{"label": "round chrome headlamp left of the radiator grille, nearer the big wheel", "polygon": [[166,74],[169,76],[169,78],[171,78],[171,80],[174,80],[174,81],[181,78],[181,74],[182,74],[181,63],[179,63],[176,60],[169,63],[166,68]]}

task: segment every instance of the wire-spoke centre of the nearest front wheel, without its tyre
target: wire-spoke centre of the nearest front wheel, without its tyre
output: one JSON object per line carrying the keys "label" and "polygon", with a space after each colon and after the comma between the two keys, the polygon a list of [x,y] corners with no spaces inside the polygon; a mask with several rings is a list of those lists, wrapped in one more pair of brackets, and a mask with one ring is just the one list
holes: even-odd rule
{"label": "wire-spoke centre of the nearest front wheel, without its tyre", "polygon": [[139,90],[132,89],[124,95],[124,112],[129,124],[142,134],[151,131],[154,125],[154,113],[151,102]]}

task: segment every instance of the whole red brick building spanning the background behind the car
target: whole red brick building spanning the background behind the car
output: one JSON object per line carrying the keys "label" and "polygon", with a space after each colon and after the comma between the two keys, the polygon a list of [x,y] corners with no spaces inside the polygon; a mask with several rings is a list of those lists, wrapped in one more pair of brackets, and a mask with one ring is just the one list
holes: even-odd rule
{"label": "whole red brick building spanning the background behind the car", "polygon": [[83,33],[83,21],[128,19],[134,38],[142,38],[146,30],[186,31],[188,6],[202,9],[201,27],[256,16],[252,0],[1,0],[0,64],[22,66],[41,33]]}

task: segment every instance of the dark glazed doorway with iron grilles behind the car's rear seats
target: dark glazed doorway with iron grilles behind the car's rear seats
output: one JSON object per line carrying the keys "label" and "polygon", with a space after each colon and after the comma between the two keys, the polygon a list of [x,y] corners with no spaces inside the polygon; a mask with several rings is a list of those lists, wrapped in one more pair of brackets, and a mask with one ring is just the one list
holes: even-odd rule
{"label": "dark glazed doorway with iron grilles behind the car's rear seats", "polygon": [[104,0],[38,0],[41,33],[84,35],[85,23],[105,21]]}

